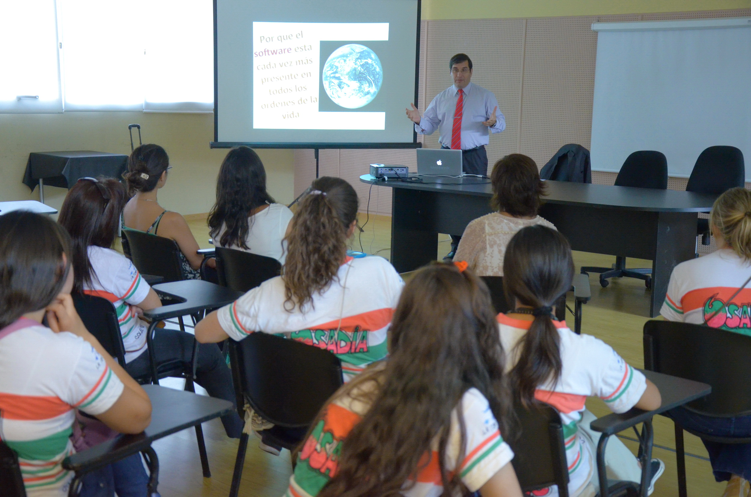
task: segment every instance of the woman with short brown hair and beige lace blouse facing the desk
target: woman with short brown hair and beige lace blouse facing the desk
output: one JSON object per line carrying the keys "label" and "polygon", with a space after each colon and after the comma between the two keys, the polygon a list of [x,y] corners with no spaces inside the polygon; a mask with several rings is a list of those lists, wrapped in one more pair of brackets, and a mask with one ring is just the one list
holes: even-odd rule
{"label": "woman with short brown hair and beige lace blouse facing the desk", "polygon": [[454,261],[466,261],[478,276],[503,276],[506,245],[518,230],[534,224],[555,226],[537,215],[544,182],[537,164],[521,154],[506,155],[490,173],[492,212],[467,224]]}

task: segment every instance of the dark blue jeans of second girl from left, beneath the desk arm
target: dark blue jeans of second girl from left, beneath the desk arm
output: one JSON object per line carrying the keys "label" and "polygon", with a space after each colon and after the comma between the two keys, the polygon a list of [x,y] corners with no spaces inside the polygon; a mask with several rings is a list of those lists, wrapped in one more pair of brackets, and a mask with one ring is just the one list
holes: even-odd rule
{"label": "dark blue jeans of second girl from left, beneath the desk arm", "polygon": [[[157,364],[170,360],[182,360],[189,367],[193,356],[193,341],[194,338],[190,333],[157,328],[152,342]],[[125,365],[125,369],[136,378],[148,375],[150,372],[149,351],[144,351],[143,354],[131,360]],[[235,404],[232,373],[216,343],[198,345],[195,382],[204,387],[210,396]],[[243,421],[240,420],[237,411],[222,416],[222,424],[225,426],[228,437],[240,438],[243,432]]]}

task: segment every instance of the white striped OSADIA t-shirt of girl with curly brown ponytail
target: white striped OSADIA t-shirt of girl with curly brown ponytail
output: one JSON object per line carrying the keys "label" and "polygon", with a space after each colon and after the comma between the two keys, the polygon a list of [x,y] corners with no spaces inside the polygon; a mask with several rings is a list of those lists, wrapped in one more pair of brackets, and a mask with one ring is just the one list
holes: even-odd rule
{"label": "white striped OSADIA t-shirt of girl with curly brown ponytail", "polygon": [[336,279],[303,311],[284,307],[282,276],[267,280],[219,309],[219,324],[231,339],[250,333],[284,333],[298,342],[332,351],[347,381],[387,355],[386,335],[404,282],[380,257],[347,258]]}

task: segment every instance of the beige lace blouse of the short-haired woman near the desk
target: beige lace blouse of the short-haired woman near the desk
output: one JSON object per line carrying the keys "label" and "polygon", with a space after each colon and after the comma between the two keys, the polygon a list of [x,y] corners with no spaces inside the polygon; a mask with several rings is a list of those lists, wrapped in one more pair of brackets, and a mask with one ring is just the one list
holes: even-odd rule
{"label": "beige lace blouse of the short-haired woman near the desk", "polygon": [[503,276],[503,256],[511,237],[523,227],[542,224],[556,229],[553,223],[535,216],[511,218],[499,212],[487,214],[467,224],[454,261],[467,261],[477,276]]}

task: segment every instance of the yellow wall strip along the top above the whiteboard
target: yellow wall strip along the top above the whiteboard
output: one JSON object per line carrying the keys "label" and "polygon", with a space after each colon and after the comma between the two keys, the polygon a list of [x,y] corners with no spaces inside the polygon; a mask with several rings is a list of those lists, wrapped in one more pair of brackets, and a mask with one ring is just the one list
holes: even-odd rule
{"label": "yellow wall strip along the top above the whiteboard", "polygon": [[751,8],[751,0],[423,0],[424,20],[597,16]]}

